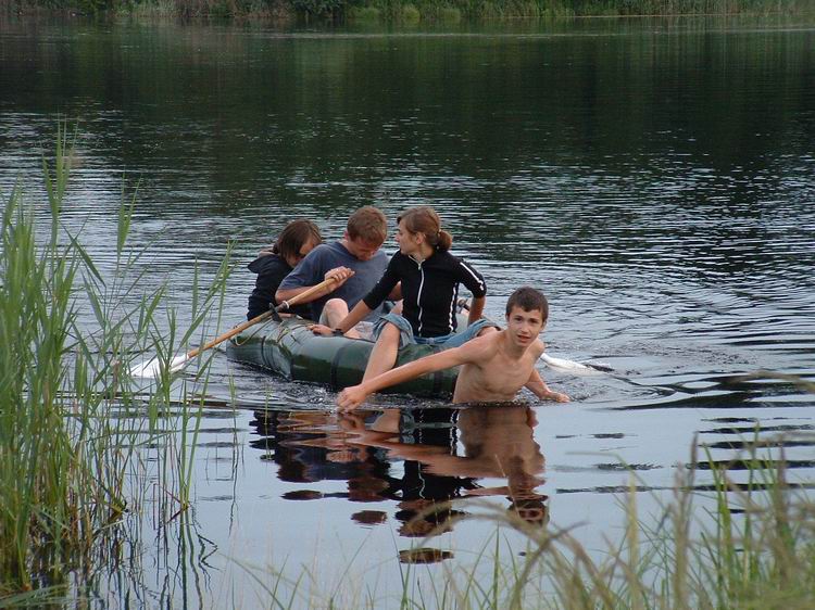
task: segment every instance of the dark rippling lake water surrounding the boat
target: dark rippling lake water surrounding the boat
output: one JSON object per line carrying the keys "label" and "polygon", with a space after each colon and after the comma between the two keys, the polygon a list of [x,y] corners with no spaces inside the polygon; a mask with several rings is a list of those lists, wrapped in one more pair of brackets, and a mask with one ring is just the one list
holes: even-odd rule
{"label": "dark rippling lake water surrounding the boat", "polygon": [[303,567],[296,607],[335,590],[340,607],[398,606],[400,551],[450,552],[421,568],[429,579],[492,552],[490,523],[423,539],[432,523],[411,517],[451,498],[574,525],[597,550],[620,534],[619,465],[635,467],[647,513],[697,435],[727,462],[757,434],[813,482],[813,396],[740,379],[815,378],[812,17],[387,31],[0,22],[7,194],[18,181],[39,196],[59,118],[78,120],[66,227],[84,225],[110,271],[123,176],[138,182],[143,289],[167,281],[181,322],[195,262],[211,277],[229,240],[224,328],[246,313],[244,265],[287,220],[334,239],[360,205],[393,219],[427,203],[487,279],[490,316],[516,287],[539,287],[551,355],[614,369],[541,367],[568,405],[377,397],[401,409],[401,433],[383,436],[365,429],[373,415],[334,414],[331,392],[218,353],[193,507],[183,524],[137,516],[126,565],[109,567],[127,575],[101,581],[99,606],[148,592],[146,605],[268,607],[275,570],[296,580]]}

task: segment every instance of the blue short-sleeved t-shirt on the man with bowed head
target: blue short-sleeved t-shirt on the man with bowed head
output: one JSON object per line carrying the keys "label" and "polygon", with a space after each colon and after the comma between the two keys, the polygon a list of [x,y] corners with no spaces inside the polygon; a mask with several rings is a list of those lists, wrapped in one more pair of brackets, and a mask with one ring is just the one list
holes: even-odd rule
{"label": "blue short-sleeved t-shirt on the man with bowed head", "polygon": [[[369,260],[360,260],[340,242],[324,243],[312,250],[300,264],[280,282],[278,290],[303,288],[318,284],[326,272],[335,267],[348,267],[354,270],[353,277],[334,292],[312,301],[312,319],[318,320],[323,307],[329,298],[342,298],[352,309],[383,277],[388,267],[388,256],[379,250]],[[374,309],[366,318],[376,320],[381,314],[381,306]]]}

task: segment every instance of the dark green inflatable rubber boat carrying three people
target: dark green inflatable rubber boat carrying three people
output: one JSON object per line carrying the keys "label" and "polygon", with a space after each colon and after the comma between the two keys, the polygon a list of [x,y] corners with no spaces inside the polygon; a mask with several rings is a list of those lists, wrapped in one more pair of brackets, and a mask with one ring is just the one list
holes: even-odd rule
{"label": "dark green inflatable rubber boat carrying three people", "polygon": [[[333,390],[360,383],[374,344],[360,339],[315,335],[306,328],[309,323],[287,318],[247,329],[229,341],[227,357],[291,381],[325,383]],[[408,345],[399,351],[397,366],[438,351],[439,347],[431,345]],[[451,394],[456,376],[456,369],[438,371],[388,391],[425,396]]]}

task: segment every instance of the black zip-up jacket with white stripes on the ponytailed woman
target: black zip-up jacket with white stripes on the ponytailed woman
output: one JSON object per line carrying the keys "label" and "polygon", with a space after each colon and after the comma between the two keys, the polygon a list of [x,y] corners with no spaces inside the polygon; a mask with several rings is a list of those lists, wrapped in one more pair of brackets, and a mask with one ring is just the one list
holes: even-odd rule
{"label": "black zip-up jacket with white stripes on the ponytailed woman", "polygon": [[411,322],[416,336],[442,336],[455,331],[460,283],[476,298],[487,294],[481,275],[449,252],[436,251],[422,263],[397,252],[385,275],[363,298],[365,305],[378,307],[400,281],[402,316]]}

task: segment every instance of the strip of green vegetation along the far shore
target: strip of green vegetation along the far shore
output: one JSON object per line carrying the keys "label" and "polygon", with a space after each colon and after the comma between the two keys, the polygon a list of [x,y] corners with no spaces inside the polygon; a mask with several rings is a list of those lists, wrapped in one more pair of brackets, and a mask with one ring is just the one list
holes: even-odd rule
{"label": "strip of green vegetation along the far shore", "polygon": [[212,18],[350,23],[460,23],[501,18],[795,14],[810,0],[10,0],[21,16]]}

